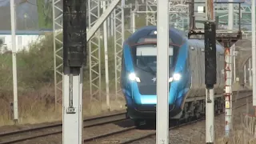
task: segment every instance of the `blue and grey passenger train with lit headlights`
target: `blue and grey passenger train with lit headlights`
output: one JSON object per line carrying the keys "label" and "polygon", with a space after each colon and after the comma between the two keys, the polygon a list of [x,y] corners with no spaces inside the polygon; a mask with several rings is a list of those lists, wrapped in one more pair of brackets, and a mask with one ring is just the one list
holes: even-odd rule
{"label": "blue and grey passenger train with lit headlights", "polygon": [[[188,39],[170,27],[170,119],[187,119],[205,114],[204,40]],[[218,42],[217,42],[218,43]],[[215,110],[222,111],[224,48],[217,48],[217,84],[214,85]],[[127,116],[138,125],[156,118],[157,26],[144,26],[123,44],[122,93]]]}

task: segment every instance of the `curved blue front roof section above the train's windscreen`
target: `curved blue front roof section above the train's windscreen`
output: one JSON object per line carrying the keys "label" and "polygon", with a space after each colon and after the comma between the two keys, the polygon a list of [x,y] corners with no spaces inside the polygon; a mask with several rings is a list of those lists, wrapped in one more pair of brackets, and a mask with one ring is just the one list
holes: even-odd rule
{"label": "curved blue front roof section above the train's windscreen", "polygon": [[[134,45],[138,43],[140,38],[157,38],[157,26],[143,26],[142,28],[136,30],[134,34],[131,34],[129,38],[126,39],[126,43]],[[169,27],[169,38],[170,42],[181,46],[186,42],[186,35],[182,34],[182,31]]]}

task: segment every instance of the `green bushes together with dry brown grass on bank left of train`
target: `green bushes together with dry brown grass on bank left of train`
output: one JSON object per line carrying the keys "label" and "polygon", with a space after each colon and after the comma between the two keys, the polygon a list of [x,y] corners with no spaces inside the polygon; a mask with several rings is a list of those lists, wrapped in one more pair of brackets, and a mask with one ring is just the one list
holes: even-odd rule
{"label": "green bushes together with dry brown grass on bank left of train", "polygon": [[[137,18],[138,19],[138,18]],[[142,18],[140,18],[142,19]],[[139,20],[138,22],[140,22]],[[137,23],[138,23],[137,22]],[[146,22],[145,22],[146,23]],[[144,26],[142,24],[141,26]],[[137,24],[137,27],[141,27]],[[127,29],[127,26],[126,26]],[[130,28],[129,28],[130,29]],[[125,37],[130,35],[126,31]],[[62,34],[59,35],[62,39]],[[100,71],[102,93],[105,91],[105,57],[103,41],[100,41]],[[1,44],[0,44],[1,45]],[[57,43],[57,47],[61,47]],[[50,122],[61,120],[62,105],[61,99],[55,107],[54,113],[54,38],[52,34],[47,34],[45,38],[37,42],[30,43],[29,51],[19,51],[17,53],[17,78],[18,78],[18,111],[21,122]],[[94,48],[94,47],[93,47]],[[102,97],[101,103],[90,101],[90,61],[89,48],[87,49],[87,64],[84,66],[84,114],[100,114],[106,110],[106,102]],[[62,50],[58,51],[62,56]],[[97,56],[98,57],[98,56]],[[115,99],[112,91],[114,90],[114,38],[108,38],[108,58],[109,58],[109,76],[110,76],[110,106],[111,110],[119,110],[125,107],[123,99]],[[62,64],[62,59],[56,59],[58,64]],[[95,67],[96,68],[96,67]],[[62,71],[62,67],[58,69]],[[0,126],[12,123],[12,108],[10,103],[13,102],[13,72],[12,72],[12,54],[0,54]],[[57,75],[58,80],[62,79]],[[103,95],[103,94],[102,94]]]}

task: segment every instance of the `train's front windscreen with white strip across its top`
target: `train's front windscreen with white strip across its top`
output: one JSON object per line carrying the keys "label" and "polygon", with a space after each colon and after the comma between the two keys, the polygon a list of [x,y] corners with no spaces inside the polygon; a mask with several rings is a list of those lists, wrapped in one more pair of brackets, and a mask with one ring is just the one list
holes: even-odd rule
{"label": "train's front windscreen with white strip across its top", "polygon": [[[136,65],[139,69],[157,71],[157,46],[156,45],[141,45],[136,47]],[[169,47],[169,67],[171,68],[174,55],[174,47]]]}

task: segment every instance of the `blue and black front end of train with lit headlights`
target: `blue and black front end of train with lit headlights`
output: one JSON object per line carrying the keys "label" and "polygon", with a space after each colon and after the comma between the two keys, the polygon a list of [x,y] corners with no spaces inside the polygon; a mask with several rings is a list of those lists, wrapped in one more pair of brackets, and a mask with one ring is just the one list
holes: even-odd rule
{"label": "blue and black front end of train with lit headlights", "polygon": [[[156,37],[139,38],[138,42],[123,45],[122,56],[122,92],[126,98],[127,114],[132,119],[155,119],[157,104],[157,45]],[[169,109],[170,118],[181,112],[178,106],[180,92],[184,92],[182,65],[186,61],[178,58],[180,46],[169,46]],[[185,62],[184,62],[185,65]]]}

